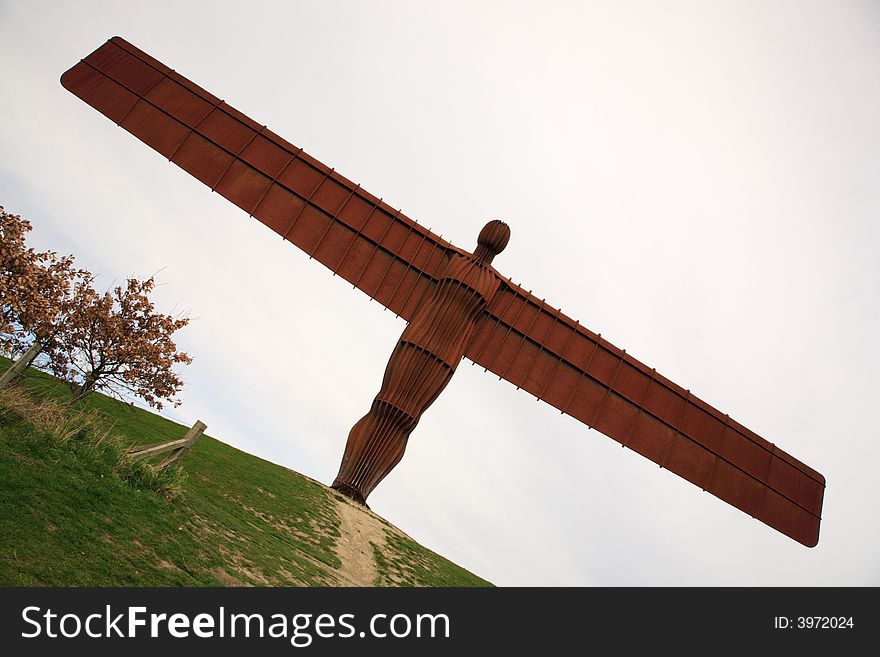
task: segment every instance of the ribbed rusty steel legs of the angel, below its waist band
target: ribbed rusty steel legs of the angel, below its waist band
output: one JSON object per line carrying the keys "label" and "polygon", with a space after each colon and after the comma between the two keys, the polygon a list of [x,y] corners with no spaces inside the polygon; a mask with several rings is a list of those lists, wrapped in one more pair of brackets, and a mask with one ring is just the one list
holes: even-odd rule
{"label": "ribbed rusty steel legs of the angel, below its waist band", "polygon": [[425,409],[452,378],[452,368],[408,342],[399,342],[369,413],[352,427],[333,488],[356,502],[391,472]]}

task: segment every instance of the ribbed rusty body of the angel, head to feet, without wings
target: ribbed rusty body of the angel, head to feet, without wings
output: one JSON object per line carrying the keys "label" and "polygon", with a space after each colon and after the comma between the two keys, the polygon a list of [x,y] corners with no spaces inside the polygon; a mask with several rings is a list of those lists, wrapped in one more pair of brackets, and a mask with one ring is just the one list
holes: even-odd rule
{"label": "ribbed rusty body of the angel, head to feet, without wings", "polygon": [[498,290],[500,281],[489,264],[509,235],[506,224],[491,221],[473,255],[452,256],[400,336],[370,411],[349,433],[333,488],[366,504],[400,462],[409,435],[452,379],[474,322]]}

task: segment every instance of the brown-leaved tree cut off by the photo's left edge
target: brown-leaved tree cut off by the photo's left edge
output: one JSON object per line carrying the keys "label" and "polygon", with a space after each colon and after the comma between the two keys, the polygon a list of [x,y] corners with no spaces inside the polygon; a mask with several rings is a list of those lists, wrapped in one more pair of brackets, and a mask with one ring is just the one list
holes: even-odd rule
{"label": "brown-leaved tree cut off by the photo's left edge", "polygon": [[91,282],[73,256],[37,252],[25,244],[31,224],[0,206],[0,350],[15,355],[34,342],[49,361],[63,363],[57,333],[74,283]]}

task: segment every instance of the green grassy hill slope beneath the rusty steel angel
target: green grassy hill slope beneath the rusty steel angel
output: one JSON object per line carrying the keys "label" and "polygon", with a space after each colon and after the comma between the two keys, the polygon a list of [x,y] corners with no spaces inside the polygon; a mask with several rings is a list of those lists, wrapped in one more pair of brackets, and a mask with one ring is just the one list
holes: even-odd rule
{"label": "green grassy hill slope beneath the rusty steel angel", "polygon": [[[0,371],[8,367],[0,359]],[[489,586],[296,472],[203,436],[177,471],[132,445],[187,427],[29,371],[0,391],[0,585]]]}

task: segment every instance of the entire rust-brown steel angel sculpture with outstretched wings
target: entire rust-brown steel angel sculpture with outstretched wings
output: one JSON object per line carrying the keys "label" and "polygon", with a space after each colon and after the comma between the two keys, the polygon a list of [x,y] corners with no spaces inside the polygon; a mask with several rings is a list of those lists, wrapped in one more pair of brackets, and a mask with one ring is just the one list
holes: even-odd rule
{"label": "entire rust-brown steel angel sculpture with outstretched wings", "polygon": [[[364,501],[462,354],[807,546],[825,479],[489,264],[115,37],[62,84],[409,322],[335,485]],[[500,232],[499,232],[500,231]],[[500,248],[499,248],[500,247]]]}

